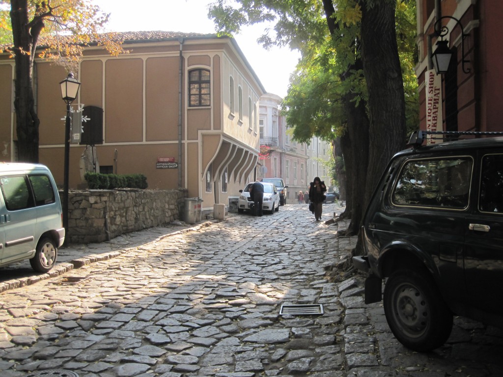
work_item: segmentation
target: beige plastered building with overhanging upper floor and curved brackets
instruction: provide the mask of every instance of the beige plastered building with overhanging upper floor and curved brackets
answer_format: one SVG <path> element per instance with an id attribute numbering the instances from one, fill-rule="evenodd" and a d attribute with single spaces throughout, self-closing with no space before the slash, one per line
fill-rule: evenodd
<path id="1" fill-rule="evenodd" d="M 259 99 L 265 93 L 235 40 L 172 32 L 121 36 L 128 54 L 113 57 L 89 46 L 73 72 L 81 82 L 73 107 L 102 109 L 94 113 L 103 114 L 97 137 L 103 141 L 96 143 L 94 156 L 98 172 L 142 173 L 149 189 L 184 187 L 188 197 L 203 200 L 204 209 L 228 204 L 229 196 L 239 195 L 256 177 Z M 59 82 L 67 73 L 47 61 L 36 62 L 39 160 L 59 185 L 66 115 Z M 14 59 L 1 56 L 1 161 L 17 159 L 14 79 Z M 85 149 L 85 144 L 70 146 L 70 189 L 85 187 Z"/>

